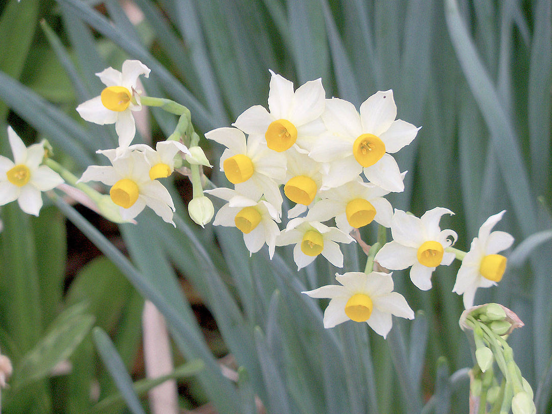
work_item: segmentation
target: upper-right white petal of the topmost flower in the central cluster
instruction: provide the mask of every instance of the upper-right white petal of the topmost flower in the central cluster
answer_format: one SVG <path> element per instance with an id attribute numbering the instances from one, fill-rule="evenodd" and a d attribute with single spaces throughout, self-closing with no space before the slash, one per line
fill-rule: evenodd
<path id="1" fill-rule="evenodd" d="M 295 91 L 294 105 L 289 108 L 289 119 L 293 121 L 295 126 L 309 123 L 322 115 L 325 100 L 326 92 L 322 86 L 322 79 L 319 78 L 302 84 Z M 272 113 L 272 109 L 270 109 L 270 113 Z M 275 116 L 275 114 L 273 115 Z"/>

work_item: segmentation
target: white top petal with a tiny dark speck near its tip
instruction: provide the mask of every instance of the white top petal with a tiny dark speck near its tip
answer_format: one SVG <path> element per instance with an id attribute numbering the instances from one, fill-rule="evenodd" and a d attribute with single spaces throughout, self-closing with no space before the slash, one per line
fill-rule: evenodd
<path id="1" fill-rule="evenodd" d="M 393 91 L 378 91 L 360 105 L 363 132 L 380 136 L 397 117 Z"/>

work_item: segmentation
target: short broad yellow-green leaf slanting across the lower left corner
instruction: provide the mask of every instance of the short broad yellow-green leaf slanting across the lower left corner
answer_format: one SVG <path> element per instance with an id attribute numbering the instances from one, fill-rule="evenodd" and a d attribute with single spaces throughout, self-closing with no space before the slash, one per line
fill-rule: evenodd
<path id="1" fill-rule="evenodd" d="M 72 306 L 52 322 L 46 336 L 15 367 L 13 388 L 45 378 L 71 356 L 94 323 L 94 317 L 83 314 L 83 309 L 82 304 Z"/>

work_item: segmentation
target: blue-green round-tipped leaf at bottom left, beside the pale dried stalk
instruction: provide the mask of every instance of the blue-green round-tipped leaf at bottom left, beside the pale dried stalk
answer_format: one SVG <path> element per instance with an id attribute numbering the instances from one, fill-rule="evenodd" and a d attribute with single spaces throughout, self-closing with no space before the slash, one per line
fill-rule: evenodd
<path id="1" fill-rule="evenodd" d="M 117 350 L 115 349 L 113 342 L 111 342 L 111 339 L 109 339 L 107 333 L 105 333 L 102 328 L 95 327 L 92 331 L 92 335 L 100 357 L 102 357 L 104 366 L 113 376 L 115 384 L 117 384 L 117 387 L 119 388 L 119 391 L 121 392 L 121 395 L 123 396 L 123 399 L 125 400 L 130 411 L 134 414 L 145 414 L 144 408 L 142 408 L 142 405 L 134 392 L 132 379 L 126 371 L 125 364 L 119 357 L 119 354 L 117 353 Z"/>

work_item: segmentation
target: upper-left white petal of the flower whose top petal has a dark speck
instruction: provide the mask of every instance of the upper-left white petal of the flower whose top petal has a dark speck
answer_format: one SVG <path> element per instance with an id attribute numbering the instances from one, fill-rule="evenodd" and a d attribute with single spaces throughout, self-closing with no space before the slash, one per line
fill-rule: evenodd
<path id="1" fill-rule="evenodd" d="M 351 144 L 363 132 L 357 108 L 344 99 L 326 99 L 326 110 L 322 114 L 322 120 L 328 130 L 337 132 L 339 136 L 348 139 Z"/>

